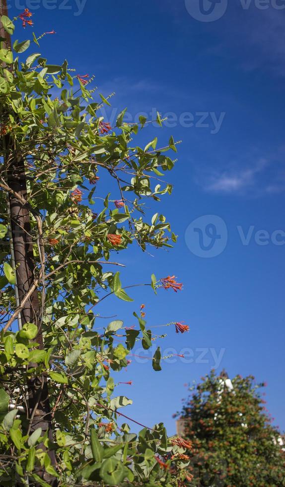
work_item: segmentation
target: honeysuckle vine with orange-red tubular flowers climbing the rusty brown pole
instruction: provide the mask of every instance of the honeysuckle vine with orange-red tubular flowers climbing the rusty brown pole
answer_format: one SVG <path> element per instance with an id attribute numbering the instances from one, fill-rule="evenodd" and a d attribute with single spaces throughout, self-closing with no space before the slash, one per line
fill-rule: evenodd
<path id="1" fill-rule="evenodd" d="M 0 20 L 10 35 L 14 22 L 33 24 L 28 9 L 14 21 L 5 15 Z M 67 61 L 48 64 L 38 52 L 23 55 L 33 45 L 38 50 L 39 40 L 48 34 L 55 31 L 33 34 L 32 41 L 15 40 L 11 49 L 1 38 L 0 485 L 49 486 L 45 474 L 38 475 L 44 471 L 56 479 L 53 485 L 63 487 L 182 487 L 191 482 L 185 455 L 189 444 L 168 438 L 162 423 L 144 426 L 140 418 L 118 410 L 132 401 L 115 394 L 122 383 L 115 384 L 111 374 L 131 366 L 137 341 L 149 349 L 158 339 L 146 327 L 145 305 L 134 312 L 136 325 L 116 319 L 99 331 L 96 322 L 108 296 L 133 301 L 127 293 L 133 286 L 124 286 L 117 271 L 124 267 L 117 262 L 119 251 L 133 242 L 148 251 L 176 241 L 162 214 L 149 221 L 145 201 L 159 202 L 171 194 L 163 178 L 174 161 L 165 153 L 176 152 L 177 142 L 171 137 L 160 149 L 157 138 L 144 148 L 136 145 L 136 135 L 147 123 L 144 117 L 139 124 L 128 124 L 123 110 L 111 127 L 99 112 L 111 95 L 97 94 L 92 76 L 76 74 Z M 156 121 L 161 125 L 159 114 Z M 7 178 L 15 158 L 24 161 L 25 196 Z M 97 198 L 101 180 L 107 178 L 116 185 L 114 199 L 110 193 Z M 9 194 L 28 211 L 31 224 L 22 231 L 32 239 L 33 282 L 20 302 Z M 114 251 L 116 259 L 111 258 Z M 171 275 L 152 275 L 138 285 L 155 293 L 182 289 Z M 18 329 L 17 319 L 35 291 L 40 302 L 36 323 Z M 170 325 L 173 332 L 189 330 L 181 322 Z M 43 347 L 36 340 L 39 327 Z M 152 357 L 155 371 L 161 370 L 160 360 L 158 346 Z M 29 411 L 27 384 L 35 377 L 48 386 L 52 437 L 41 427 L 31 429 L 37 404 Z M 133 434 L 128 423 L 118 426 L 118 417 L 143 429 Z"/>

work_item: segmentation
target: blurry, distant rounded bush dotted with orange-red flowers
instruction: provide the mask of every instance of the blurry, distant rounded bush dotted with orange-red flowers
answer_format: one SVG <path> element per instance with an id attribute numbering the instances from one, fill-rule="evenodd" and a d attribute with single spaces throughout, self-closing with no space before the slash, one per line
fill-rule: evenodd
<path id="1" fill-rule="evenodd" d="M 190 388 L 180 413 L 196 486 L 285 486 L 285 449 L 254 377 L 214 371 Z"/>

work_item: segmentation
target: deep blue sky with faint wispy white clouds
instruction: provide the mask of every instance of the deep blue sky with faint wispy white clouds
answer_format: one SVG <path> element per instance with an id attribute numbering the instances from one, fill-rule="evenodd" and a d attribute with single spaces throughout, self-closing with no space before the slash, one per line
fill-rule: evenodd
<path id="1" fill-rule="evenodd" d="M 174 347 L 179 354 L 186 347 L 193 361 L 178 358 L 154 373 L 149 360 L 133 358 L 118 379 L 134 382 L 117 390 L 134 400 L 126 413 L 148 426 L 163 420 L 174 433 L 171 416 L 187 395 L 184 384 L 217 365 L 230 377 L 253 374 L 266 381 L 268 408 L 285 429 L 285 5 L 272 0 L 261 9 L 258 2 L 236 0 L 220 18 L 204 22 L 193 18 L 194 3 L 197 7 L 198 0 L 14 4 L 34 12 L 37 35 L 56 30 L 41 44 L 51 63 L 67 58 L 77 73 L 94 74 L 105 96 L 116 92 L 106 116 L 127 106 L 134 120 L 157 109 L 168 113 L 166 127 L 149 126 L 140 140 L 158 135 L 163 146 L 173 135 L 183 141 L 168 175 L 173 195 L 150 209 L 167 216 L 178 243 L 153 256 L 134 245 L 122 255 L 128 266 L 122 281 L 149 282 L 152 272 L 175 274 L 184 290 L 154 296 L 139 288 L 130 292 L 134 306 L 112 298 L 100 312 L 133 325 L 132 312 L 144 303 L 150 326 L 184 321 L 191 328 L 184 335 L 173 328 L 153 331 L 168 335 L 161 341 L 163 353 Z M 105 189 L 102 177 L 98 191 L 103 195 Z M 206 227 L 220 238 L 208 238 Z M 200 228 L 203 241 L 194 228 Z M 209 250 L 199 256 L 201 242 Z"/>

